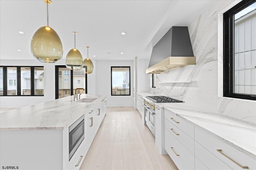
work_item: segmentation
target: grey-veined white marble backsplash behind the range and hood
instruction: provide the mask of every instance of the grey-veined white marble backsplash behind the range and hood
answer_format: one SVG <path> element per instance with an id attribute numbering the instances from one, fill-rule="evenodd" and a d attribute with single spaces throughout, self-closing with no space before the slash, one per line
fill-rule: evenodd
<path id="1" fill-rule="evenodd" d="M 218 96 L 218 13 L 234 1 L 217 1 L 204 14 L 188 25 L 196 65 L 156 74 L 152 94 L 183 100 L 191 110 L 220 113 L 256 123 L 256 102 Z M 220 77 L 219 77 L 220 79 Z M 190 83 L 159 83 L 181 82 Z M 220 90 L 220 89 L 219 89 Z"/>

